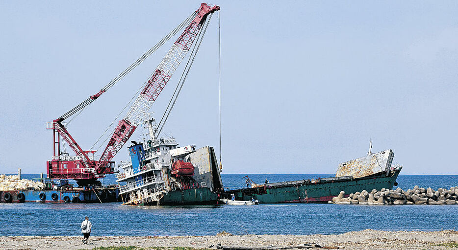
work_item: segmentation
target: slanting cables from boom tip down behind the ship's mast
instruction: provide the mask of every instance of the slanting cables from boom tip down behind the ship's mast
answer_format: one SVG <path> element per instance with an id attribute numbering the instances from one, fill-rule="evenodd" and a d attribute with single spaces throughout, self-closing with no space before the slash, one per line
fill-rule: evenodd
<path id="1" fill-rule="evenodd" d="M 211 13 L 209 15 L 208 20 L 204 21 L 206 23 L 202 24 L 202 25 L 205 24 L 204 30 L 202 32 L 199 32 L 199 35 L 198 35 L 198 37 L 196 39 L 197 41 L 199 41 L 199 43 L 196 43 L 196 45 L 194 45 L 194 48 L 191 51 L 191 56 L 189 57 L 188 62 L 186 63 L 186 66 L 185 66 L 185 68 L 183 70 L 183 73 L 181 74 L 181 77 L 180 77 L 180 79 L 178 81 L 177 88 L 175 89 L 174 94 L 172 95 L 172 98 L 169 101 L 169 105 L 167 105 L 167 108 L 164 111 L 164 114 L 162 115 L 161 120 L 159 121 L 159 125 L 158 125 L 159 126 L 159 130 L 157 132 L 157 135 L 159 135 L 161 133 L 162 129 L 164 128 L 164 124 L 167 121 L 167 118 L 169 118 L 170 112 L 172 111 L 172 109 L 173 109 L 173 107 L 175 105 L 175 102 L 177 101 L 179 92 L 181 91 L 181 88 L 183 88 L 184 82 L 186 81 L 186 77 L 188 76 L 189 70 L 192 67 L 192 64 L 194 62 L 194 59 L 196 58 L 197 52 L 199 51 L 199 47 L 201 46 L 202 40 L 204 39 L 205 32 L 207 30 L 208 24 L 210 23 L 212 15 L 213 15 L 213 13 Z M 201 37 L 201 35 L 202 35 L 202 37 Z M 180 84 L 180 82 L 181 82 L 181 84 Z M 178 86 L 179 86 L 179 89 L 178 89 Z M 174 95 L 175 95 L 175 97 L 174 97 Z M 172 102 L 172 100 L 173 100 L 173 102 Z M 169 107 L 170 107 L 170 109 L 169 109 Z"/>

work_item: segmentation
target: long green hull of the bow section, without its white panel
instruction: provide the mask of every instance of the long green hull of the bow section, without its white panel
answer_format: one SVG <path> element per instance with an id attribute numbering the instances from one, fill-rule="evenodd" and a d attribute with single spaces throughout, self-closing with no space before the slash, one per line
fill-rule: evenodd
<path id="1" fill-rule="evenodd" d="M 230 199 L 232 194 L 237 201 L 251 201 L 252 198 L 259 203 L 324 203 L 331 201 L 345 191 L 346 196 L 350 193 L 371 191 L 382 188 L 391 189 L 397 185 L 401 168 L 392 170 L 388 175 L 385 172 L 353 178 L 331 177 L 315 181 L 301 180 L 295 182 L 278 182 L 259 185 L 253 188 L 229 190 L 221 194 L 222 198 Z"/>

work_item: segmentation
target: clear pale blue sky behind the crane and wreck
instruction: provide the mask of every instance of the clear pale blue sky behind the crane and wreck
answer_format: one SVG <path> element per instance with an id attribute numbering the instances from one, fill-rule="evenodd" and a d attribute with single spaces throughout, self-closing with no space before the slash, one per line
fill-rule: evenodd
<path id="1" fill-rule="evenodd" d="M 373 152 L 394 151 L 401 174 L 458 174 L 456 1 L 209 3 L 221 6 L 223 173 L 333 174 L 366 155 L 372 139 Z M 0 173 L 46 172 L 46 122 L 97 93 L 199 6 L 0 1 Z M 68 124 L 84 150 L 122 118 L 172 43 Z M 153 104 L 156 118 L 183 68 Z M 219 155 L 218 100 L 214 14 L 166 135 Z M 114 160 L 125 159 L 126 146 Z"/>

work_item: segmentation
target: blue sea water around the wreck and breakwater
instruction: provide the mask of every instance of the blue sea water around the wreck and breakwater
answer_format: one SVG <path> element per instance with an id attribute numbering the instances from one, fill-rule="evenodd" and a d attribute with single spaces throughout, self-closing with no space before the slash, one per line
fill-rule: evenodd
<path id="1" fill-rule="evenodd" d="M 222 174 L 225 186 L 245 184 L 246 174 Z M 257 183 L 295 181 L 332 175 L 248 174 Z M 39 175 L 22 175 L 38 178 Z M 113 184 L 114 176 L 103 180 Z M 458 176 L 400 175 L 402 189 L 458 186 Z M 0 236 L 75 236 L 89 216 L 93 236 L 198 236 L 226 231 L 242 234 L 338 234 L 376 229 L 387 231 L 458 229 L 458 205 L 188 205 L 128 206 L 106 204 L 0 203 Z"/>

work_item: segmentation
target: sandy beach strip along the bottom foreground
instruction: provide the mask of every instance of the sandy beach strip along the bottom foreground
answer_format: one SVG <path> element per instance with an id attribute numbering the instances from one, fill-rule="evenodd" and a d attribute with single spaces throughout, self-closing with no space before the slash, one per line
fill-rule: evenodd
<path id="1" fill-rule="evenodd" d="M 270 245 L 295 246 L 305 243 L 340 246 L 348 250 L 446 250 L 454 249 L 453 246 L 458 247 L 458 231 L 390 232 L 367 229 L 336 235 L 104 236 L 91 237 L 88 245 L 82 244 L 80 236 L 0 237 L 0 249 L 8 250 L 77 250 L 108 246 L 210 248 L 211 245 L 216 246 L 217 244 L 263 247 Z M 212 249 L 216 249 L 216 247 L 212 247 Z"/>

